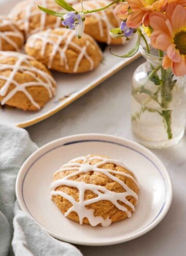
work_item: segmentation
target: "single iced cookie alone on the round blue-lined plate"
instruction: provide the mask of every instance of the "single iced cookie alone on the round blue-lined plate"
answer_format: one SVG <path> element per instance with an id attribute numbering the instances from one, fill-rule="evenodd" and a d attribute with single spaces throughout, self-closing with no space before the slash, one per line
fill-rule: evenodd
<path id="1" fill-rule="evenodd" d="M 138 183 L 122 162 L 88 155 L 54 173 L 51 197 L 69 219 L 107 227 L 135 212 Z"/>

